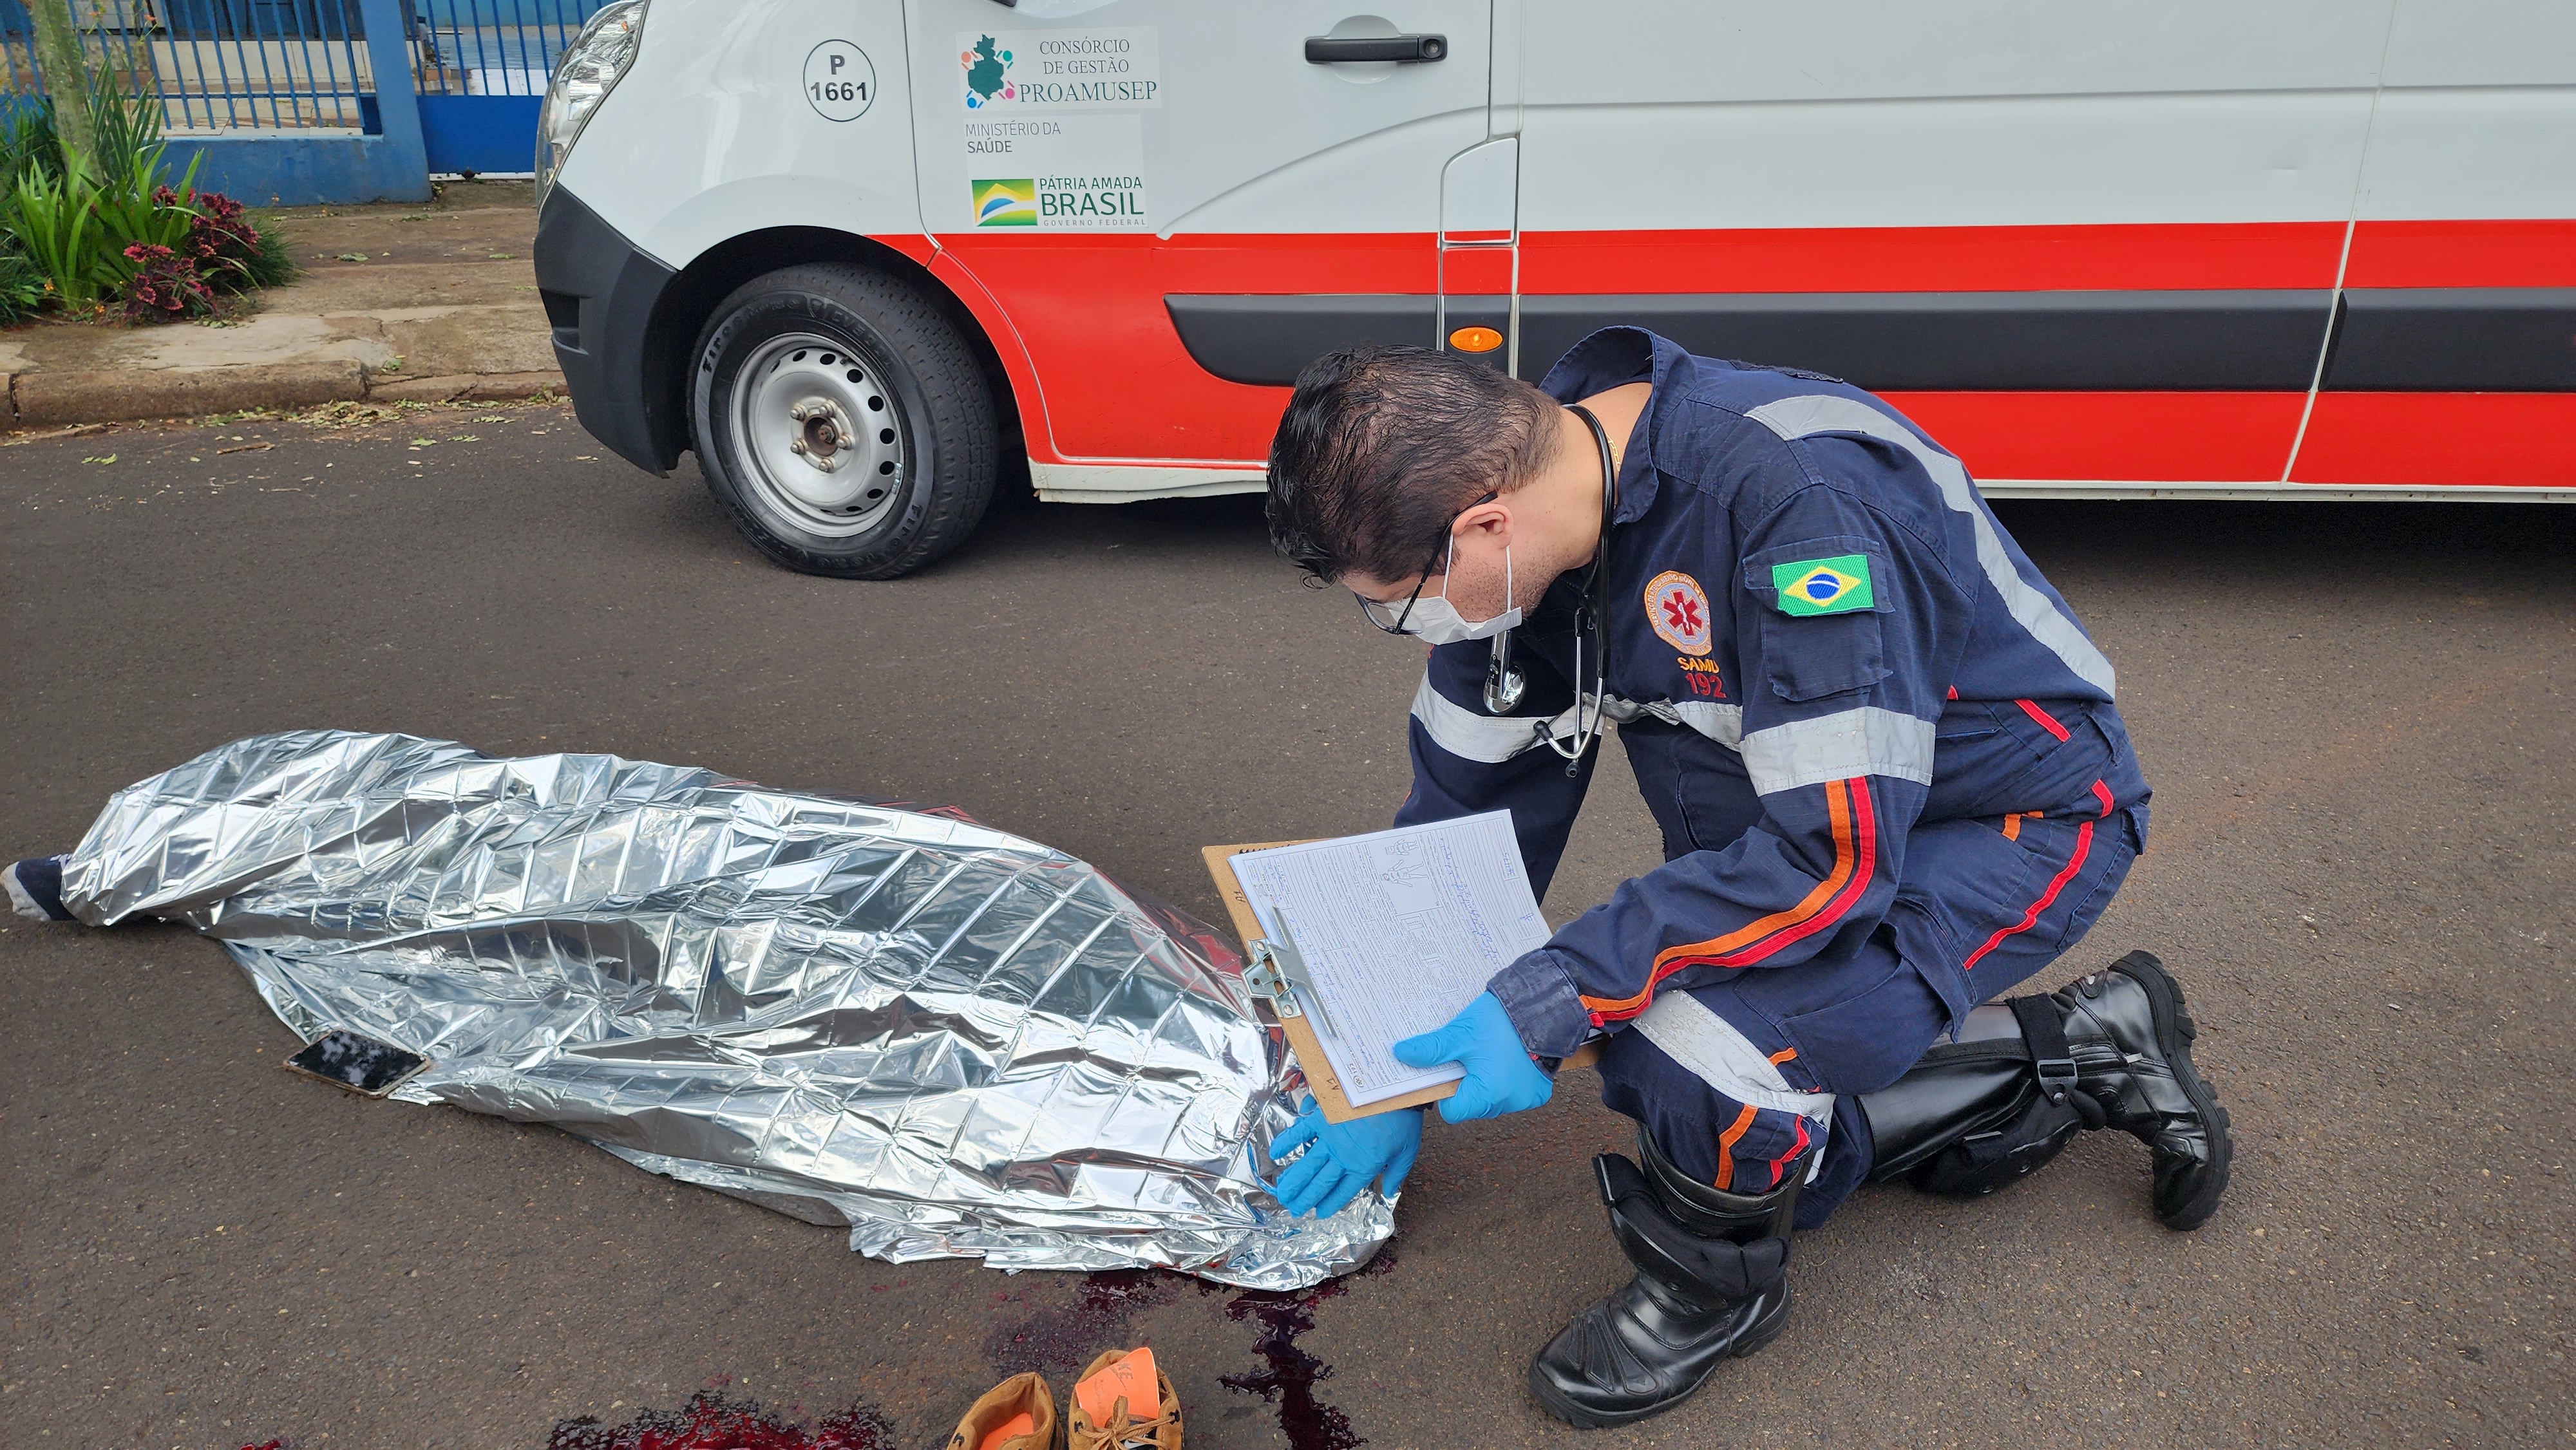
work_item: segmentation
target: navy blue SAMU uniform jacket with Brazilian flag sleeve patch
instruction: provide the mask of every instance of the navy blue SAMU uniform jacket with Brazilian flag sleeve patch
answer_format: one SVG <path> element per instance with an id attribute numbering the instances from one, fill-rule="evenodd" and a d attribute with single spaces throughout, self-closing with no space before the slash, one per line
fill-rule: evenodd
<path id="1" fill-rule="evenodd" d="M 1911 881 L 1906 834 L 2143 806 L 2110 662 L 1960 461 L 1886 402 L 1633 327 L 1584 337 L 1540 386 L 1577 402 L 1631 381 L 1654 397 L 1620 458 L 1602 698 L 1669 860 L 1492 992 L 1533 1053 L 1566 1056 L 1659 989 L 1832 963 L 1888 930 L 1965 1012 L 1960 968 L 2025 904 Z M 1510 809 L 1540 894 L 1592 765 L 1569 778 L 1543 747 L 1574 729 L 1577 579 L 1515 634 L 1528 695 L 1512 716 L 1481 701 L 1489 644 L 1430 652 L 1396 814 Z"/>

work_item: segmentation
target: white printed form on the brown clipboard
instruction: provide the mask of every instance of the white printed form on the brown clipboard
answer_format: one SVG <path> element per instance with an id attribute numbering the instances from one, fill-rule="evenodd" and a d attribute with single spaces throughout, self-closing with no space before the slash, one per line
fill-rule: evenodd
<path id="1" fill-rule="evenodd" d="M 1510 811 L 1226 858 L 1262 935 L 1303 961 L 1303 1012 L 1352 1107 L 1458 1082 L 1394 1043 L 1448 1025 L 1486 979 L 1546 945 Z"/>

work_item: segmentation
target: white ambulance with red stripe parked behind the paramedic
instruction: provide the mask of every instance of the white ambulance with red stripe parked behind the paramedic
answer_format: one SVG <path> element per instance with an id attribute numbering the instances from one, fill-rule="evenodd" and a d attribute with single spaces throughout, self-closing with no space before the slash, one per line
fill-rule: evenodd
<path id="1" fill-rule="evenodd" d="M 793 569 L 1257 489 L 1347 343 L 1886 394 L 1989 494 L 2576 500 L 2571 0 L 616 0 L 582 425 Z"/>

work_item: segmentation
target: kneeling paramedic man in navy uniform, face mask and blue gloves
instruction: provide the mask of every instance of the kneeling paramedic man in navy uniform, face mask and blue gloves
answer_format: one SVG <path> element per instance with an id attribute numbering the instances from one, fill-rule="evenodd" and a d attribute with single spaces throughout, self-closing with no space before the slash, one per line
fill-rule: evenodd
<path id="1" fill-rule="evenodd" d="M 1396 1048 L 1466 1066 L 1458 1123 L 1538 1107 L 1600 1038 L 1638 1120 L 1643 1164 L 1595 1162 L 1636 1280 L 1538 1352 L 1548 1411 L 1643 1419 L 1767 1344 L 1790 1229 L 1862 1180 L 1991 1192 L 2123 1128 L 2169 1229 L 2218 1208 L 2226 1110 L 2154 956 L 2002 999 L 2110 904 L 2148 791 L 2110 662 L 1888 404 L 1631 327 L 1540 386 L 1332 353 L 1273 440 L 1270 533 L 1432 644 L 1396 824 L 1510 809 L 1543 894 L 1615 721 L 1664 832 L 1662 868 Z M 1419 1110 L 1309 1110 L 1280 1200 L 1394 1192 L 1419 1141 Z"/>

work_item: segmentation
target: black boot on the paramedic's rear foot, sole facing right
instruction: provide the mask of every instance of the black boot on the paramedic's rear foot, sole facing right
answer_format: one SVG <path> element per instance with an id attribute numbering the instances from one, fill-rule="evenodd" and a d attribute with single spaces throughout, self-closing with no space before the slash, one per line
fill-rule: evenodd
<path id="1" fill-rule="evenodd" d="M 1878 1144 L 1870 1180 L 1994 1192 L 2076 1131 L 2120 1128 L 2156 1154 L 2156 1218 L 2197 1229 L 2228 1187 L 2233 1144 L 2192 1069 L 2195 1035 L 2182 986 L 2143 950 L 2061 992 L 1978 1007 L 1958 1043 L 1860 1100 Z"/>

